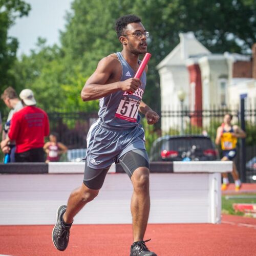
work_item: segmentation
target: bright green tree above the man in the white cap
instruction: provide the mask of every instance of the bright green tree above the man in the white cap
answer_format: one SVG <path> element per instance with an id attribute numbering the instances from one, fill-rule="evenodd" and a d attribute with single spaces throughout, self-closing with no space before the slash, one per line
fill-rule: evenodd
<path id="1" fill-rule="evenodd" d="M 15 63 L 13 76 L 16 88 L 31 89 L 37 105 L 52 111 L 92 111 L 96 101 L 84 103 L 80 98 L 86 76 L 78 64 L 67 60 L 57 45 L 47 46 L 44 38 L 38 38 L 36 49 L 23 55 Z"/>

